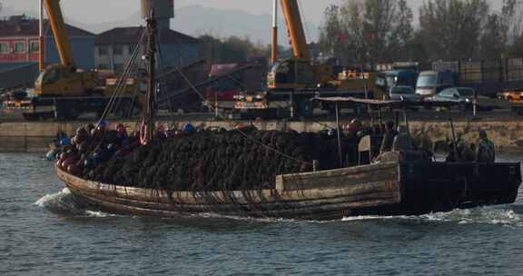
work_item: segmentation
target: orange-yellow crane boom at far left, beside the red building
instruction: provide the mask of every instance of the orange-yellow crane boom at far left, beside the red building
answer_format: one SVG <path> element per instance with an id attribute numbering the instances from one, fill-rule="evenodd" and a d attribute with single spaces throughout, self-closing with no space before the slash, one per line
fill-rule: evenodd
<path id="1" fill-rule="evenodd" d="M 60 63 L 65 67 L 75 67 L 73 49 L 64 23 L 64 15 L 60 9 L 60 0 L 44 0 L 45 10 L 54 34 L 54 44 L 60 55 Z"/>

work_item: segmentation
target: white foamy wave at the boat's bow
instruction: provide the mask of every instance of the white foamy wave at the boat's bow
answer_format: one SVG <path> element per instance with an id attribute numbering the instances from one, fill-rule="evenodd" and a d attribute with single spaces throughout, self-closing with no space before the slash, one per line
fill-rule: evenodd
<path id="1" fill-rule="evenodd" d="M 88 210 L 84 205 L 74 201 L 73 194 L 67 188 L 60 192 L 44 195 L 35 202 L 35 205 L 61 215 L 100 218 L 113 216 L 113 214 L 105 212 Z"/>

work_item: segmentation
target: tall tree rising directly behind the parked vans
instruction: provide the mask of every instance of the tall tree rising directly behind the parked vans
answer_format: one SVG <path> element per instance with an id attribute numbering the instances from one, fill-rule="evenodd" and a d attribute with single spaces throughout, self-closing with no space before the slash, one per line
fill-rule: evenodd
<path id="1" fill-rule="evenodd" d="M 452 60 L 477 56 L 488 12 L 486 0 L 424 2 L 419 8 L 419 25 L 429 58 Z M 489 20 L 495 25 L 498 18 Z"/>

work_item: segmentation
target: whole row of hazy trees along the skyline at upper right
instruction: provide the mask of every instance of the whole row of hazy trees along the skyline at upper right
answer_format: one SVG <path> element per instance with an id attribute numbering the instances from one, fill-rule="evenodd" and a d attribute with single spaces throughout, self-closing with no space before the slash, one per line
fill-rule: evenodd
<path id="1" fill-rule="evenodd" d="M 523 54 L 523 0 L 342 0 L 324 12 L 319 46 L 346 64 L 489 60 Z M 416 20 L 418 19 L 418 20 Z"/>

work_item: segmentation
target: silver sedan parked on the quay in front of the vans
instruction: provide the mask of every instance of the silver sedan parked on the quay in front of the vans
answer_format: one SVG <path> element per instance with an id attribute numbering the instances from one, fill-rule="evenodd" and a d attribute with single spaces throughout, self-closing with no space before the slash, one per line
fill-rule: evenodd
<path id="1" fill-rule="evenodd" d="M 474 104 L 475 94 L 476 92 L 473 88 L 451 87 L 441 91 L 433 97 L 427 98 L 426 101 L 454 102 L 459 104 L 461 110 L 469 110 L 472 109 L 472 104 Z M 478 106 L 479 110 L 491 111 L 499 106 L 498 99 L 491 99 L 487 96 L 478 95 Z"/>

